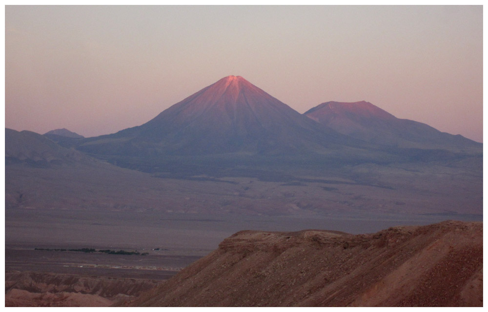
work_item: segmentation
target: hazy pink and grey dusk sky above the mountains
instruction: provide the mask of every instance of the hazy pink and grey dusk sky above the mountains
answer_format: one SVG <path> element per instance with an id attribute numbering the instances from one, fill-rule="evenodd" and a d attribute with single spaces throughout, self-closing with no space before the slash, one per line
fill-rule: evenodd
<path id="1" fill-rule="evenodd" d="M 7 128 L 115 133 L 229 75 L 482 142 L 483 7 L 5 7 Z"/>

